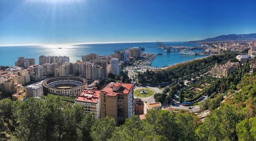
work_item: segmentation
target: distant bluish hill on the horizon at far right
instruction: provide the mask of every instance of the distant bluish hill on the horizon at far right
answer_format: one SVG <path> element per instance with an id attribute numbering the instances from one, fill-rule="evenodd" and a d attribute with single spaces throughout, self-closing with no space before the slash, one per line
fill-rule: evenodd
<path id="1" fill-rule="evenodd" d="M 252 34 L 229 34 L 199 41 L 227 41 L 227 40 L 256 40 L 256 33 Z"/>

